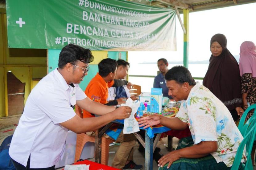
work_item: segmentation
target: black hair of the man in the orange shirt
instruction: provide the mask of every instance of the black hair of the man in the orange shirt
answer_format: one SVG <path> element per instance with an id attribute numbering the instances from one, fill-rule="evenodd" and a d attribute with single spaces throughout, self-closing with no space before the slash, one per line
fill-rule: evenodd
<path id="1" fill-rule="evenodd" d="M 113 59 L 103 59 L 98 64 L 99 67 L 99 75 L 101 77 L 106 77 L 109 73 L 113 73 L 117 67 L 117 61 Z"/>

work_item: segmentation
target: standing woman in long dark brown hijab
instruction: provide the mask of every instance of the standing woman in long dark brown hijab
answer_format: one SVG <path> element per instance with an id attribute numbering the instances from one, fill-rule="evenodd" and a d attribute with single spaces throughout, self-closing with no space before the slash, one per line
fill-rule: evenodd
<path id="1" fill-rule="evenodd" d="M 227 39 L 223 34 L 213 35 L 210 50 L 212 55 L 203 85 L 225 104 L 237 121 L 238 115 L 244 112 L 238 63 L 227 49 Z"/>

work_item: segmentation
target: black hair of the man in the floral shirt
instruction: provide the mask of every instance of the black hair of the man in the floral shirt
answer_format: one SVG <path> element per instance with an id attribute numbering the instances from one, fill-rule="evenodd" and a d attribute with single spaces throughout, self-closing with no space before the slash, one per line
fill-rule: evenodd
<path id="1" fill-rule="evenodd" d="M 168 80 L 175 80 L 179 84 L 188 82 L 188 84 L 190 86 L 191 85 L 196 85 L 196 82 L 193 79 L 191 73 L 188 71 L 188 69 L 186 67 L 183 67 L 183 66 L 172 67 L 165 74 L 165 79 L 167 81 Z"/>

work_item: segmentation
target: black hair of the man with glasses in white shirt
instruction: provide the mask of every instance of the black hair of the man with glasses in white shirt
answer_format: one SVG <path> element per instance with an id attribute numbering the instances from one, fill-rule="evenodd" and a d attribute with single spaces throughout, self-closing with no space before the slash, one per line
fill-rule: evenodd
<path id="1" fill-rule="evenodd" d="M 78 61 L 91 63 L 94 60 L 92 51 L 76 44 L 68 44 L 60 51 L 58 67 L 61 69 L 67 63 L 76 65 Z"/>

